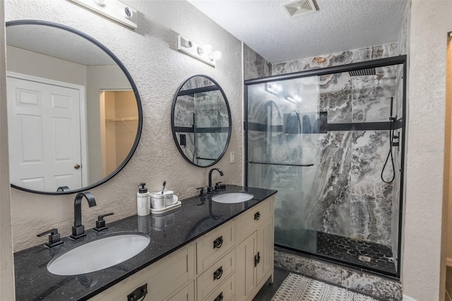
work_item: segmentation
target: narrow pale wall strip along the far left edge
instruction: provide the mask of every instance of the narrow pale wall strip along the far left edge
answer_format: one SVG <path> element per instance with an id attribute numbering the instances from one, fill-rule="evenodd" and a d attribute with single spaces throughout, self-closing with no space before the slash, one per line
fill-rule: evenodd
<path id="1" fill-rule="evenodd" d="M 4 2 L 0 1 L 0 45 L 5 45 Z M 14 300 L 13 241 L 9 191 L 8 122 L 6 120 L 5 47 L 0 47 L 0 292 L 1 298 Z"/>

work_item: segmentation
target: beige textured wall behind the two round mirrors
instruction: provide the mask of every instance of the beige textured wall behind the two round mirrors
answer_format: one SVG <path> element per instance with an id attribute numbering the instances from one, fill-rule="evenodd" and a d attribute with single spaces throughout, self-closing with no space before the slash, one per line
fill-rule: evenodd
<path id="1" fill-rule="evenodd" d="M 71 1 L 5 1 L 6 20 L 49 20 L 69 25 L 100 41 L 124 63 L 141 95 L 144 118 L 138 149 L 119 175 L 92 189 L 97 206 L 88 208 L 85 202 L 82 206 L 87 228 L 93 228 L 95 218 L 102 213 L 114 212 L 109 220 L 136 214 L 136 187 L 140 182 L 146 182 L 155 191 L 166 180 L 167 188 L 182 198 L 196 194 L 195 187 L 207 184 L 208 169 L 189 165 L 177 151 L 171 134 L 172 98 L 190 76 L 206 74 L 225 90 L 232 111 L 228 153 L 234 151 L 236 158 L 242 158 L 241 42 L 186 1 L 124 2 L 138 10 L 137 30 L 86 11 Z M 201 45 L 209 43 L 222 52 L 222 60 L 212 68 L 178 52 L 178 34 Z M 242 184 L 240 160 L 229 163 L 229 155 L 225 155 L 215 166 L 225 172 L 222 182 Z M 62 235 L 69 235 L 73 198 L 74 195 L 42 196 L 13 189 L 14 249 L 43 243 L 43 239 L 36 237 L 42 230 L 59 228 Z"/>

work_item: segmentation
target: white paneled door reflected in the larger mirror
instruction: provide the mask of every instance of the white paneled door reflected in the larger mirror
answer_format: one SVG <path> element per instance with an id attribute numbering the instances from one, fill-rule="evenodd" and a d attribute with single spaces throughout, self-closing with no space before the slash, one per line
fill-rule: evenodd
<path id="1" fill-rule="evenodd" d="M 82 187 L 80 90 L 7 78 L 11 183 Z"/>

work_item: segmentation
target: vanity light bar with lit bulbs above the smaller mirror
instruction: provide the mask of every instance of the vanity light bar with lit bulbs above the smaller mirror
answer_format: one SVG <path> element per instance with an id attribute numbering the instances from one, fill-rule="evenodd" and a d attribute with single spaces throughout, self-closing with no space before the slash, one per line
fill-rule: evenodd
<path id="1" fill-rule="evenodd" d="M 201 46 L 193 40 L 182 37 L 182 35 L 177 37 L 177 49 L 213 67 L 215 67 L 216 61 L 222 58 L 222 53 L 218 50 L 213 51 L 212 46 Z"/>

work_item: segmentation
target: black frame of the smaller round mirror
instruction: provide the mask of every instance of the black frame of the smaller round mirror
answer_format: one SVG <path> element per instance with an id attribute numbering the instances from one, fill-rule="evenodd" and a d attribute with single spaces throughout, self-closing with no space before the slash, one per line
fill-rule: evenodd
<path id="1" fill-rule="evenodd" d="M 191 160 L 189 160 L 189 158 L 186 157 L 186 155 L 184 154 L 184 151 L 182 151 L 182 148 L 179 146 L 179 141 L 177 140 L 177 136 L 176 136 L 176 131 L 175 131 L 175 126 L 174 126 L 174 108 L 176 107 L 176 101 L 177 101 L 177 94 L 179 93 L 179 91 L 182 89 L 182 87 L 185 85 L 185 83 L 187 81 L 190 81 L 191 78 L 197 77 L 197 76 L 202 76 L 204 78 L 207 78 L 209 81 L 211 81 L 212 83 L 214 83 L 217 87 L 218 90 L 220 90 L 222 97 L 225 99 L 225 104 L 227 107 L 227 117 L 229 118 L 229 126 L 228 126 L 228 131 L 227 131 L 227 140 L 226 140 L 226 144 L 225 144 L 225 148 L 223 148 L 222 153 L 218 156 L 217 160 L 213 161 L 213 163 L 209 164 L 209 165 L 197 165 L 194 162 L 192 162 Z M 221 86 L 210 76 L 206 76 L 203 74 L 196 74 L 194 76 L 191 76 L 190 78 L 188 78 L 186 81 L 184 81 L 181 85 L 179 85 L 179 88 L 177 88 L 176 93 L 174 94 L 174 98 L 172 100 L 172 106 L 171 106 L 171 131 L 172 131 L 172 138 L 174 138 L 174 143 L 176 143 L 177 149 L 179 150 L 179 153 L 181 153 L 182 157 L 191 165 L 197 166 L 197 167 L 210 167 L 212 165 L 215 165 L 216 163 L 218 163 L 218 161 L 221 160 L 221 158 L 223 157 L 223 155 L 225 155 L 226 151 L 227 151 L 227 147 L 229 146 L 230 140 L 231 140 L 231 132 L 232 132 L 232 119 L 231 119 L 231 109 L 229 107 L 229 102 L 227 101 L 226 95 L 225 95 L 225 91 L 223 91 L 223 89 L 221 88 Z"/>

